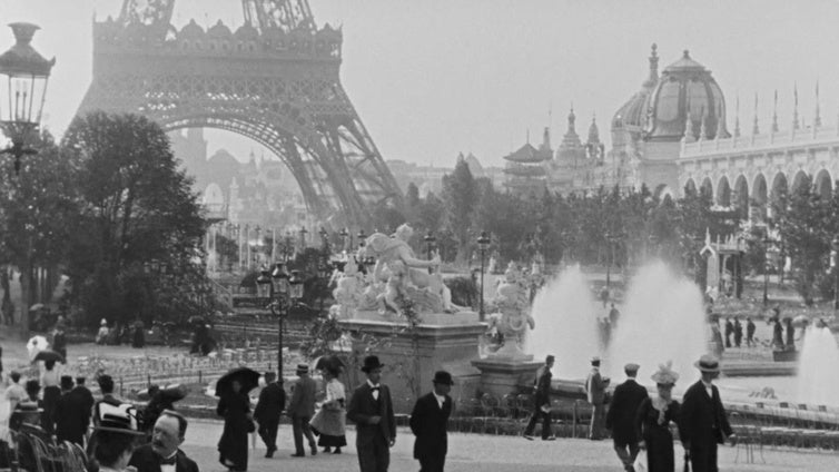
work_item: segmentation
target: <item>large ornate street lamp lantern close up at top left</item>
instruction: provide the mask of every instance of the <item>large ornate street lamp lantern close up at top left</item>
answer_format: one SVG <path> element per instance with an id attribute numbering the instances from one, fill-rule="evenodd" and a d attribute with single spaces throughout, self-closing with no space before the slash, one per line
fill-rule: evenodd
<path id="1" fill-rule="evenodd" d="M 11 146 L 2 153 L 14 156 L 17 175 L 20 159 L 37 153 L 26 147 L 26 140 L 41 122 L 47 82 L 56 58 L 45 59 L 30 45 L 39 27 L 31 23 L 9 26 L 17 42 L 0 56 L 0 128 L 11 139 Z"/>

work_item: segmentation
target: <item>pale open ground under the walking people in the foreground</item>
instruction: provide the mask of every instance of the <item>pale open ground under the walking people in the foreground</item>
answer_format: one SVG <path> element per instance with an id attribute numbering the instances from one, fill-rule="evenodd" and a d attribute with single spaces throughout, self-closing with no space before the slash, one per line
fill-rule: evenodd
<path id="1" fill-rule="evenodd" d="M 201 472 L 223 472 L 218 463 L 215 444 L 221 435 L 221 422 L 195 420 L 189 425 L 186 453 L 198 462 Z M 343 454 L 324 454 L 310 458 L 290 458 L 294 441 L 289 425 L 282 425 L 277 437 L 279 451 L 274 459 L 264 459 L 265 448 L 257 439 L 256 449 L 250 450 L 248 471 L 307 471 L 336 472 L 357 471 L 358 460 L 355 453 L 355 434 L 347 429 L 347 442 Z M 414 436 L 407 429 L 401 429 L 396 445 L 391 454 L 391 471 L 416 471 L 418 462 L 413 459 Z M 677 456 L 681 446 L 677 444 Z M 308 448 L 307 451 L 308 453 Z M 739 456 L 738 456 L 739 452 Z M 754 452 L 754 464 L 746 464 L 744 452 L 724 446 L 720 450 L 721 471 L 836 471 L 839 468 L 839 454 L 828 452 L 794 452 L 763 450 Z M 680 464 L 681 465 L 681 464 Z M 526 441 L 515 436 L 492 436 L 481 434 L 450 434 L 448 472 L 536 472 L 536 471 L 582 471 L 582 472 L 620 472 L 618 459 L 612 451 L 611 441 L 589 441 L 560 439 L 553 442 Z M 681 466 L 678 468 L 681 470 Z"/>

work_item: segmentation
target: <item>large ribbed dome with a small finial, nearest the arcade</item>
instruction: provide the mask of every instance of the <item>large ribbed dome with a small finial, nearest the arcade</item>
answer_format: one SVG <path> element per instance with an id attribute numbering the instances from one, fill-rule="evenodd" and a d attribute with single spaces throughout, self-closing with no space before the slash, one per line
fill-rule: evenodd
<path id="1" fill-rule="evenodd" d="M 685 50 L 681 59 L 661 73 L 646 100 L 644 136 L 654 141 L 677 141 L 685 135 L 713 139 L 726 129 L 726 99 L 711 71 L 691 59 Z M 703 122 L 704 121 L 704 122 Z M 704 125 L 704 126 L 703 126 Z"/>

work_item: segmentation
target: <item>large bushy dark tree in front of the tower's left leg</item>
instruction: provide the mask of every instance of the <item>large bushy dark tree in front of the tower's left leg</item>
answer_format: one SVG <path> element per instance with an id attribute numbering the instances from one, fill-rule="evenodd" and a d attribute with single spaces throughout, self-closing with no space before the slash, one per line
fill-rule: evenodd
<path id="1" fill-rule="evenodd" d="M 73 120 L 63 148 L 80 163 L 68 272 L 88 319 L 206 309 L 206 225 L 164 130 L 137 115 L 93 112 Z"/>

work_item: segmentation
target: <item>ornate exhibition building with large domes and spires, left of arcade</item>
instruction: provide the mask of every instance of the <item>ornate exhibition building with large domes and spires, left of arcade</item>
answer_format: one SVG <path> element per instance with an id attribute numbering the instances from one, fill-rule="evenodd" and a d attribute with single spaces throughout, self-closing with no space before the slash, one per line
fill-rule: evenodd
<path id="1" fill-rule="evenodd" d="M 573 130 L 573 117 L 569 129 Z M 604 153 L 593 121 L 585 145 L 573 139 L 575 135 L 566 134 L 569 139 L 563 139 L 556 154 L 550 180 L 559 191 L 593 191 L 615 185 L 638 189 L 643 184 L 655 193 L 672 191 L 678 188 L 682 142 L 731 136 L 726 127 L 726 99 L 711 71 L 684 51 L 659 76 L 655 45 L 641 89 L 612 117 L 609 153 Z"/>

